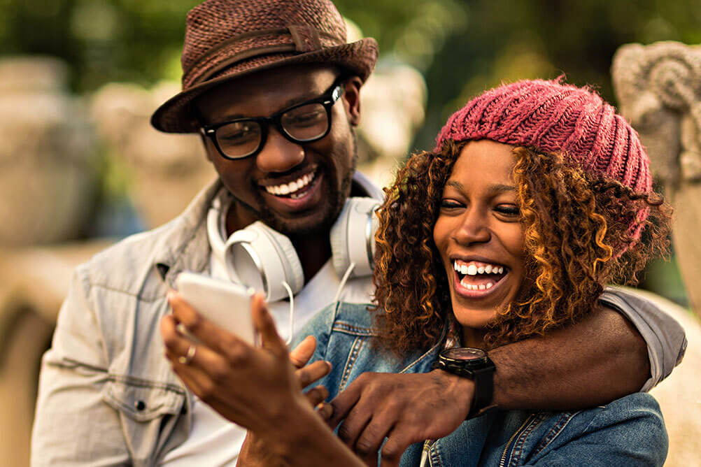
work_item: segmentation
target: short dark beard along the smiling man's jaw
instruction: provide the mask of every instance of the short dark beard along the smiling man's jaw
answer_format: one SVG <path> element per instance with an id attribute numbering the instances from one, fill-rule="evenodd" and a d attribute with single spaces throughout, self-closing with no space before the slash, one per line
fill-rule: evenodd
<path id="1" fill-rule="evenodd" d="M 283 235 L 287 235 L 287 237 L 303 237 L 330 230 L 332 225 L 334 225 L 334 222 L 336 222 L 336 219 L 339 217 L 339 214 L 341 214 L 341 210 L 346 204 L 348 195 L 351 193 L 353 174 L 355 174 L 355 167 L 358 165 L 358 145 L 355 144 L 355 131 L 353 128 L 351 128 L 351 132 L 353 133 L 353 158 L 351 159 L 351 167 L 346 175 L 343 176 L 341 186 L 339 188 L 336 188 L 335 184 L 329 183 L 329 193 L 326 193 L 326 199 L 332 200 L 332 202 L 324 207 L 325 213 L 320 222 L 317 222 L 314 225 L 309 225 L 308 223 L 300 222 L 297 219 L 288 220 L 276 216 L 264 202 L 262 195 L 260 195 L 260 193 L 257 191 L 257 187 L 254 187 L 255 189 L 252 190 L 252 193 L 256 193 L 259 208 L 252 207 L 250 204 L 247 204 L 236 197 L 234 197 L 234 199 L 240 207 L 243 207 L 252 213 L 259 221 L 262 221 L 268 225 L 268 227 L 277 230 Z M 329 181 L 334 179 L 334 177 L 331 176 L 332 174 L 330 173 L 329 166 L 324 165 L 321 167 L 321 169 L 325 179 Z"/>

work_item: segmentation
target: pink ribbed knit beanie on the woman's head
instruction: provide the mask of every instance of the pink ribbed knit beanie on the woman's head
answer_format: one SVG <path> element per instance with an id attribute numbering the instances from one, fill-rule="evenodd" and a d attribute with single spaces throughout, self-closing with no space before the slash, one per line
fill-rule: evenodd
<path id="1" fill-rule="evenodd" d="M 585 172 L 639 192 L 652 190 L 650 160 L 637 132 L 587 88 L 543 80 L 501 85 L 448 119 L 436 138 L 437 150 L 447 139 L 491 139 L 540 153 L 562 152 Z"/>

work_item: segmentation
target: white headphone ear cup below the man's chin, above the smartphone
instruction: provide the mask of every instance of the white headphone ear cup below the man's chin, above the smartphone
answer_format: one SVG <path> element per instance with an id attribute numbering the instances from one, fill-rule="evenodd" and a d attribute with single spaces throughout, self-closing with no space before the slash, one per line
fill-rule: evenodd
<path id="1" fill-rule="evenodd" d="M 234 232 L 226 242 L 226 263 L 243 284 L 264 291 L 268 302 L 287 298 L 304 286 L 304 271 L 292 242 L 257 221 Z"/>

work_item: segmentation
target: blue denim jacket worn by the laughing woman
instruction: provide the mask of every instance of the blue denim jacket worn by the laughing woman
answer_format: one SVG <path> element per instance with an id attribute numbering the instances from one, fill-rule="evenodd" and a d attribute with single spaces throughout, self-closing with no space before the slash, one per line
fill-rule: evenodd
<path id="1" fill-rule="evenodd" d="M 313 360 L 332 372 L 322 379 L 333 398 L 362 372 L 428 372 L 440 345 L 402 360 L 372 345 L 376 332 L 364 305 L 336 302 L 300 336 L 314 335 Z M 418 466 L 423 443 L 411 445 L 402 466 Z M 430 466 L 662 466 L 667 431 L 657 401 L 634 393 L 605 407 L 576 412 L 495 410 L 464 421 L 430 447 Z"/>

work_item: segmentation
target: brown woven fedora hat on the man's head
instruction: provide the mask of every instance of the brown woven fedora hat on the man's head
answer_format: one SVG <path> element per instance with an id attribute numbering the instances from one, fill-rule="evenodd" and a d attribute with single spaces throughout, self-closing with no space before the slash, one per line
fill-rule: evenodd
<path id="1" fill-rule="evenodd" d="M 168 133 L 198 132 L 192 99 L 255 71 L 298 63 L 336 64 L 365 81 L 377 60 L 372 38 L 346 43 L 330 0 L 207 0 L 185 22 L 182 92 L 151 116 Z"/>

